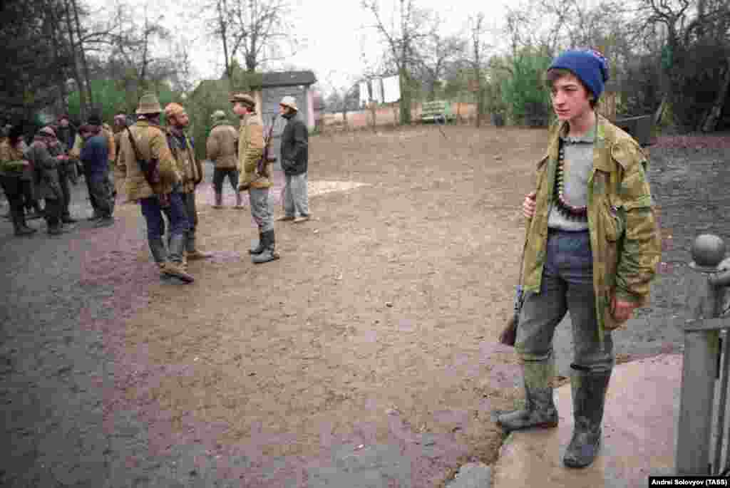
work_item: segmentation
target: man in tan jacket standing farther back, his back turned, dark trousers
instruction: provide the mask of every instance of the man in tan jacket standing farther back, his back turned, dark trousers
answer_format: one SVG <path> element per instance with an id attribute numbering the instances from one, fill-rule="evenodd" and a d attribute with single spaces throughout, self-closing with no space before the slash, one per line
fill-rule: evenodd
<path id="1" fill-rule="evenodd" d="M 236 192 L 236 207 L 242 209 L 241 192 L 238 190 L 238 132 L 226 117 L 226 112 L 216 110 L 210 117 L 213 128 L 206 143 L 207 157 L 215 164 L 213 170 L 213 189 L 215 190 L 214 209 L 223 208 L 223 181 L 228 177 Z"/>

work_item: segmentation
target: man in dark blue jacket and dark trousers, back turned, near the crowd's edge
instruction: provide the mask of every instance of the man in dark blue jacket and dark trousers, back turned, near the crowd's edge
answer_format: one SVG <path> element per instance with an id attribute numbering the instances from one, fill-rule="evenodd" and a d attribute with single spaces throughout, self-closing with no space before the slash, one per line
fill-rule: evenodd
<path id="1" fill-rule="evenodd" d="M 112 217 L 112 195 L 107 184 L 109 173 L 109 148 L 106 136 L 101 134 L 100 125 L 82 125 L 79 134 L 84 140 L 81 148 L 81 163 L 89 188 L 89 197 L 96 205 L 94 211 L 99 219 L 95 227 L 106 227 L 114 223 Z"/>

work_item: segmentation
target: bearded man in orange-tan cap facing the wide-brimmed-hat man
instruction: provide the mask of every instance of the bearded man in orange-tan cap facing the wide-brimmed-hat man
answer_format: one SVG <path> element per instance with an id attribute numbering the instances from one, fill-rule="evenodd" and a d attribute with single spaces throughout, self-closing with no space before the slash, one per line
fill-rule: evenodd
<path id="1" fill-rule="evenodd" d="M 195 189 L 203 181 L 203 167 L 196 158 L 193 139 L 185 133 L 190 125 L 190 118 L 185 108 L 176 103 L 165 107 L 167 120 L 167 145 L 172 152 L 172 158 L 177 163 L 177 170 L 183 177 L 182 185 L 185 212 L 188 214 L 188 237 L 185 241 L 185 255 L 188 260 L 198 260 L 210 257 L 210 254 L 201 252 L 196 243 L 196 229 L 198 227 L 198 209 L 195 205 Z M 183 260 L 183 262 L 185 262 Z"/>

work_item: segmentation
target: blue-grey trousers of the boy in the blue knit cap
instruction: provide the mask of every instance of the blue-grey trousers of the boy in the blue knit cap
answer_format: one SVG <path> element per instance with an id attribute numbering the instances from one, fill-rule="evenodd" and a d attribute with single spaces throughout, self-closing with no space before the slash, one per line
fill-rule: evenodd
<path id="1" fill-rule="evenodd" d="M 614 364 L 610 331 L 601 346 L 593 292 L 593 253 L 588 231 L 548 233 L 545 267 L 539 293 L 525 297 L 515 349 L 524 361 L 553 356 L 558 323 L 570 312 L 573 364 L 591 371 L 610 371 Z"/>

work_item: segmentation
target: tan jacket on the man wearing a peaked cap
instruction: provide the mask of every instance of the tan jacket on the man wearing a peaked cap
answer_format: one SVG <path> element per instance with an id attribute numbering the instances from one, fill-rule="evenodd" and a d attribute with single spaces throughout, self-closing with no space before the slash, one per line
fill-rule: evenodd
<path id="1" fill-rule="evenodd" d="M 268 188 L 272 185 L 269 177 L 258 174 L 257 166 L 264 155 L 264 125 L 256 113 L 247 114 L 241 119 L 238 136 L 239 187 L 246 189 Z M 266 168 L 272 174 L 272 165 Z"/>

